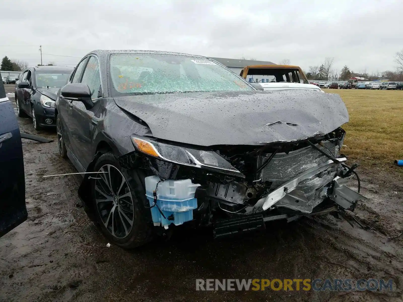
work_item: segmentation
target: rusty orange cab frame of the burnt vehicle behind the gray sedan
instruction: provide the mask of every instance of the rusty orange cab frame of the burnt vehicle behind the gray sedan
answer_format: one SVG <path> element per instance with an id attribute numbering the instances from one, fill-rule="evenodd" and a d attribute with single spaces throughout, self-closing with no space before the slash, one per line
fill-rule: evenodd
<path id="1" fill-rule="evenodd" d="M 309 84 L 301 67 L 293 65 L 249 65 L 245 66 L 239 75 L 244 79 L 252 76 L 254 83 L 294 82 Z"/>

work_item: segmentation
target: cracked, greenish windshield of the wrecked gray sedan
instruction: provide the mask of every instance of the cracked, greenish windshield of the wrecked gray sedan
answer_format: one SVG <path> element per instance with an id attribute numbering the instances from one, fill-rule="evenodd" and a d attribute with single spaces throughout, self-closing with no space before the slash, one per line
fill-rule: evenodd
<path id="1" fill-rule="evenodd" d="M 254 90 L 212 60 L 166 54 L 112 54 L 110 86 L 114 96 Z"/>

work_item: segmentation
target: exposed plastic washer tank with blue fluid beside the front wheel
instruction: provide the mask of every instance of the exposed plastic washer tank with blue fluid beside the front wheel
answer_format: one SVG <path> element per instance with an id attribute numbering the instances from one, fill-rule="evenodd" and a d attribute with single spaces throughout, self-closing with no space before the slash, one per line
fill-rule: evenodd
<path id="1" fill-rule="evenodd" d="M 154 203 L 153 191 L 159 181 L 158 176 L 145 178 L 145 196 L 150 202 L 150 206 Z M 198 186 L 200 184 L 193 184 L 190 179 L 161 181 L 158 184 L 157 205 L 166 219 L 162 217 L 156 206 L 152 207 L 151 215 L 154 225 L 162 224 L 167 229 L 171 223 L 181 225 L 186 221 L 193 220 L 193 210 L 197 209 L 195 192 Z M 173 220 L 168 220 L 171 215 Z"/>

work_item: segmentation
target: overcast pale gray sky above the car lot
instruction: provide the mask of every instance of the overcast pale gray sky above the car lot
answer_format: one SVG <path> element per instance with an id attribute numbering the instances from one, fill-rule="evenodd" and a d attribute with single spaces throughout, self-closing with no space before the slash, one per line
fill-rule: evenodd
<path id="1" fill-rule="evenodd" d="M 382 72 L 403 49 L 401 0 L 59 2 L 2 1 L 0 56 L 35 65 L 42 45 L 44 64 L 74 66 L 94 49 L 146 49 Z"/>

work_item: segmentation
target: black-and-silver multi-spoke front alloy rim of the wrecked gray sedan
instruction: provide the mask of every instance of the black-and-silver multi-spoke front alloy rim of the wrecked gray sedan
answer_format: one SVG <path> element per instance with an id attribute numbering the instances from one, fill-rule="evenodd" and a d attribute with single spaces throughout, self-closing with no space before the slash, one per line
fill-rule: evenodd
<path id="1" fill-rule="evenodd" d="M 134 222 L 133 197 L 129 185 L 113 165 L 103 165 L 96 175 L 95 201 L 102 223 L 112 236 L 125 238 Z"/>

